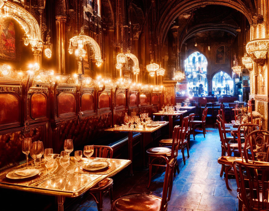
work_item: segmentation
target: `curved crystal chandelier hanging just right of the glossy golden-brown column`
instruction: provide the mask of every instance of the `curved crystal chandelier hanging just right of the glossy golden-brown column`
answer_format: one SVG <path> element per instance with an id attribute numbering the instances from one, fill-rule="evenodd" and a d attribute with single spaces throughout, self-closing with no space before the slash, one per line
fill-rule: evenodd
<path id="1" fill-rule="evenodd" d="M 81 32 L 78 36 L 74 36 L 70 39 L 68 52 L 72 54 L 74 48 L 77 47 L 77 49 L 75 50 L 75 55 L 81 60 L 82 58 L 86 56 L 86 50 L 83 49 L 84 45 L 86 44 L 89 44 L 93 47 L 95 51 L 95 57 L 94 57 L 95 62 L 96 62 L 95 64 L 99 67 L 103 62 L 101 58 L 100 47 L 98 43 L 92 37 L 84 35 L 83 29 L 81 29 Z"/>

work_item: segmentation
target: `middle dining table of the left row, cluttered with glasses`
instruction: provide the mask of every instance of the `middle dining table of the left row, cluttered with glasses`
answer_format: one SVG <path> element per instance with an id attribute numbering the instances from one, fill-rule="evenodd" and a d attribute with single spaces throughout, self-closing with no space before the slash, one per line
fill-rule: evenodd
<path id="1" fill-rule="evenodd" d="M 162 122 L 153 122 L 152 124 L 145 124 L 145 128 L 133 128 L 128 126 L 116 126 L 105 129 L 105 131 L 115 131 L 115 132 L 128 132 L 128 159 L 133 160 L 133 132 L 140 132 L 143 135 L 141 143 L 141 153 L 142 153 L 142 163 L 145 163 L 145 135 L 147 133 L 155 132 L 156 130 L 167 125 L 167 121 Z M 133 175 L 133 166 L 132 163 L 129 165 L 130 175 Z"/>

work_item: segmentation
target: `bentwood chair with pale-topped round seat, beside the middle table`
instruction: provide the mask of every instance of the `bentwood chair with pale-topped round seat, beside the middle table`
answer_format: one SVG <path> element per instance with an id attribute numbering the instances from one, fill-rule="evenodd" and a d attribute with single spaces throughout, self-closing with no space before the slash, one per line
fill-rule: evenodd
<path id="1" fill-rule="evenodd" d="M 173 141 L 172 141 L 172 148 L 168 147 L 153 147 L 147 150 L 147 155 L 149 156 L 149 183 L 147 185 L 147 188 L 150 187 L 151 178 L 152 175 L 152 167 L 156 166 L 156 172 L 159 168 L 159 166 L 165 166 L 162 164 L 163 159 L 162 157 L 166 157 L 169 161 L 173 158 L 176 159 L 174 171 L 175 168 L 177 168 L 177 172 L 179 172 L 179 167 L 177 165 L 177 154 L 178 154 L 178 147 L 180 142 L 180 137 L 182 134 L 182 130 L 180 129 L 180 126 L 174 127 L 174 133 L 173 133 Z M 174 173 L 175 174 L 175 173 Z"/>

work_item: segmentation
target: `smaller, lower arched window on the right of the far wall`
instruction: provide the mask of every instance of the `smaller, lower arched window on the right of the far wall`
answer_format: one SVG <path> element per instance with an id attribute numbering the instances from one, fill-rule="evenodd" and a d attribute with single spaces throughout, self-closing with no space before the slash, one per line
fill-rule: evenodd
<path id="1" fill-rule="evenodd" d="M 215 96 L 232 95 L 234 93 L 233 79 L 222 71 L 216 73 L 212 79 L 212 94 Z"/>

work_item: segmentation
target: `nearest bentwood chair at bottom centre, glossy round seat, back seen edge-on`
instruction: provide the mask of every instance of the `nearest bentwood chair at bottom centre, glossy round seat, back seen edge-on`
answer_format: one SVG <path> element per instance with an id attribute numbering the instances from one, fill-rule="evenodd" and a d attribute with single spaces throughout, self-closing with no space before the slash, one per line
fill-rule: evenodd
<path id="1" fill-rule="evenodd" d="M 111 204 L 112 211 L 167 211 L 173 186 L 173 168 L 175 166 L 176 158 L 168 160 L 167 157 L 162 156 L 165 160 L 165 180 L 163 184 L 162 198 L 147 194 L 147 193 L 132 193 L 119 197 Z"/>

